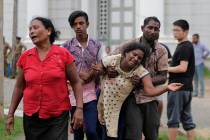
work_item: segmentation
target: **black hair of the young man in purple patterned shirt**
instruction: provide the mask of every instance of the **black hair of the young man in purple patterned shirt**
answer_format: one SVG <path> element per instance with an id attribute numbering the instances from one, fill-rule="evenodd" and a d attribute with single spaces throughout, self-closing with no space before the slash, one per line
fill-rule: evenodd
<path id="1" fill-rule="evenodd" d="M 70 14 L 69 18 L 68 18 L 68 22 L 70 24 L 71 27 L 73 27 L 74 25 L 74 21 L 76 18 L 78 17 L 84 17 L 85 20 L 86 20 L 86 23 L 88 24 L 89 23 L 89 20 L 88 20 L 88 15 L 87 13 L 85 13 L 84 11 L 74 11 L 73 13 Z"/>

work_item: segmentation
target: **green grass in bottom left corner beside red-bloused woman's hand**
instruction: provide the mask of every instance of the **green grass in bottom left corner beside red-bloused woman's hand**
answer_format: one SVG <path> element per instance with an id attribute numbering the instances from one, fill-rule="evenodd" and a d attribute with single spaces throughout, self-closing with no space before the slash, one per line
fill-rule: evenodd
<path id="1" fill-rule="evenodd" d="M 5 133 L 5 121 L 0 120 L 0 139 L 1 140 L 15 140 L 16 137 L 23 133 L 22 118 L 15 117 L 15 126 L 11 135 Z"/>

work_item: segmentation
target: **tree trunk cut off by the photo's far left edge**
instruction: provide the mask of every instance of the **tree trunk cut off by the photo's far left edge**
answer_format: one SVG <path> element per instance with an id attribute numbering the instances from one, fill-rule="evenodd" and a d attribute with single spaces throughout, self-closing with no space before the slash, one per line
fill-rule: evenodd
<path id="1" fill-rule="evenodd" d="M 0 0 L 0 119 L 4 117 L 3 0 Z"/>

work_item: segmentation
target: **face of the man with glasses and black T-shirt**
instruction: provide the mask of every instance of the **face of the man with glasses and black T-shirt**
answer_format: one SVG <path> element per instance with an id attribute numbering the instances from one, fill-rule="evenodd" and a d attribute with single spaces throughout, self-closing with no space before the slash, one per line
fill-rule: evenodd
<path id="1" fill-rule="evenodd" d="M 181 27 L 174 25 L 173 26 L 173 35 L 174 38 L 178 41 L 182 41 L 187 37 L 188 31 L 184 31 Z"/>

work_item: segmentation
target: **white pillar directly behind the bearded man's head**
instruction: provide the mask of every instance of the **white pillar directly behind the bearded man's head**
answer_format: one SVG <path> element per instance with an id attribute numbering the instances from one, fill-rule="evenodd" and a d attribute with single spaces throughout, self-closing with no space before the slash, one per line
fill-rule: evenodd
<path id="1" fill-rule="evenodd" d="M 137 0 L 139 5 L 138 16 L 140 19 L 140 26 L 143 25 L 143 21 L 148 16 L 156 16 L 161 23 L 160 35 L 164 35 L 164 12 L 165 12 L 165 3 L 164 0 Z M 140 30 L 141 31 L 141 30 Z"/>

